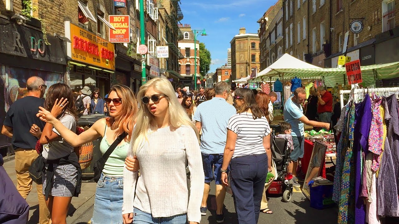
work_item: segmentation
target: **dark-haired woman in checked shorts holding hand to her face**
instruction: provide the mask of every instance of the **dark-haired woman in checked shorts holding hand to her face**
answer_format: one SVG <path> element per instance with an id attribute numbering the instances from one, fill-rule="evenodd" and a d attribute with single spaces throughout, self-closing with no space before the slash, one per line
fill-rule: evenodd
<path id="1" fill-rule="evenodd" d="M 63 83 L 53 84 L 47 91 L 44 108 L 56 113 L 53 120 L 56 120 L 59 126 L 75 134 L 76 108 L 74 104 L 68 104 L 64 99 L 73 99 L 71 88 Z M 42 176 L 43 195 L 51 220 L 55 224 L 66 224 L 72 196 L 80 193 L 79 159 L 74 153 L 73 145 L 65 141 L 52 124 L 46 123 L 42 132 L 36 124 L 33 124 L 30 132 L 40 138 L 40 143 L 43 144 L 41 154 L 45 159 Z"/>

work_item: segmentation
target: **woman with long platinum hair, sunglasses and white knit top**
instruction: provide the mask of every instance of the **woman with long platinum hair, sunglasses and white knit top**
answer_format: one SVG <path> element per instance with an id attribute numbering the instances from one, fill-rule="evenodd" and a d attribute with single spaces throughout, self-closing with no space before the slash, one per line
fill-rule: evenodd
<path id="1" fill-rule="evenodd" d="M 148 81 L 138 99 L 140 110 L 128 156 L 137 158 L 140 177 L 125 167 L 124 223 L 151 224 L 154 218 L 165 224 L 199 223 L 204 174 L 197 130 L 167 79 Z"/>

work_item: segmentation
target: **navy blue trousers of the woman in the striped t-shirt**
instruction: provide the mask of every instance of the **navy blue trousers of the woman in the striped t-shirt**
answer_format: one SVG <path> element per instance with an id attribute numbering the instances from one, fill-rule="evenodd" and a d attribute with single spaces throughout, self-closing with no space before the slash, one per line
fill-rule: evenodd
<path id="1" fill-rule="evenodd" d="M 267 154 L 231 159 L 230 185 L 239 224 L 257 224 L 267 177 Z"/>

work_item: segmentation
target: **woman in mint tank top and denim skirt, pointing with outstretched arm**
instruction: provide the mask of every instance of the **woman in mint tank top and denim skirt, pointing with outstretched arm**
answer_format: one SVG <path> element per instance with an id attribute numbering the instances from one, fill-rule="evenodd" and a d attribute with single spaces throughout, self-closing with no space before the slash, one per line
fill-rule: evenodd
<path id="1" fill-rule="evenodd" d="M 123 203 L 123 169 L 124 160 L 129 150 L 129 142 L 134 126 L 134 115 L 137 111 L 137 100 L 127 86 L 115 85 L 105 98 L 111 117 L 98 120 L 80 135 L 66 128 L 56 119 L 58 114 L 51 114 L 41 108 L 38 116 L 41 120 L 53 125 L 57 132 L 73 147 L 83 145 L 102 137 L 100 151 L 104 154 L 117 137 L 126 132 L 128 135 L 111 153 L 101 178 L 97 183 L 94 199 L 92 224 L 122 224 Z M 63 105 L 65 105 L 64 100 Z M 61 105 L 62 106 L 62 105 Z"/>

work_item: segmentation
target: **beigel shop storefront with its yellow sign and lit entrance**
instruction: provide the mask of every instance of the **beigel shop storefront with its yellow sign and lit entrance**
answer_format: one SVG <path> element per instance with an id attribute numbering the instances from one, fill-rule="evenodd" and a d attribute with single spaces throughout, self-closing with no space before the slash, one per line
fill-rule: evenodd
<path id="1" fill-rule="evenodd" d="M 71 40 L 67 75 L 73 92 L 78 95 L 83 86 L 89 86 L 99 88 L 104 97 L 115 81 L 115 45 L 70 21 L 65 21 L 65 37 Z"/>

